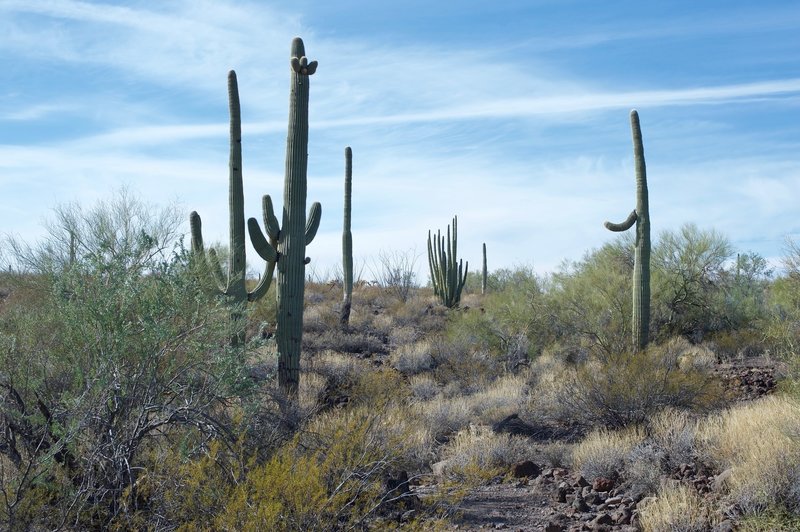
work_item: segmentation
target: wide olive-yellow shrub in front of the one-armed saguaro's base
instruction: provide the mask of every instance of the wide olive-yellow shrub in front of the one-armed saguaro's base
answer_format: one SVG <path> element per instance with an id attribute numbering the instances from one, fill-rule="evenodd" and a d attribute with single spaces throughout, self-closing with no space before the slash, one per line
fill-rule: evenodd
<path id="1" fill-rule="evenodd" d="M 666 407 L 704 411 L 721 404 L 724 390 L 710 373 L 679 367 L 680 346 L 595 355 L 565 371 L 553 383 L 564 414 L 585 425 L 623 427 L 643 423 Z"/>

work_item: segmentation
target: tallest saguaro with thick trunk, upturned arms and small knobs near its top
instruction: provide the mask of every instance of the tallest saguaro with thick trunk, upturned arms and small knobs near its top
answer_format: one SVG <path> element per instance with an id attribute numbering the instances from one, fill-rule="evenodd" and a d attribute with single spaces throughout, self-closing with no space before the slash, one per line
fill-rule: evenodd
<path id="1" fill-rule="evenodd" d="M 258 221 L 250 218 L 247 226 L 258 254 L 277 261 L 278 382 L 290 395 L 296 395 L 300 383 L 300 351 L 303 342 L 303 296 L 305 294 L 306 246 L 319 228 L 322 207 L 314 203 L 306 218 L 306 179 L 308 169 L 308 89 L 309 76 L 317 62 L 306 58 L 302 39 L 292 41 L 289 63 L 289 132 L 286 137 L 286 177 L 283 187 L 283 216 L 278 219 L 269 195 L 264 196 L 264 225 L 269 241 Z"/>

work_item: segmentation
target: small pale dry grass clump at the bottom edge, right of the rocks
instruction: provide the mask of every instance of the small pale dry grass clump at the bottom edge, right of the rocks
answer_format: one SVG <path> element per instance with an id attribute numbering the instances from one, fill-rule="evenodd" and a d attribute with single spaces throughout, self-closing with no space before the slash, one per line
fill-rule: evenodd
<path id="1" fill-rule="evenodd" d="M 677 485 L 665 486 L 657 497 L 645 501 L 639 523 L 646 532 L 703 532 L 712 518 L 695 489 Z"/>

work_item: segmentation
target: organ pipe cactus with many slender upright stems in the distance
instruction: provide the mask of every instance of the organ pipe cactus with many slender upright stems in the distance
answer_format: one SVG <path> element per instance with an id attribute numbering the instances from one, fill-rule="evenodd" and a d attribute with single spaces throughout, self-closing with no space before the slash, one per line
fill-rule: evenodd
<path id="1" fill-rule="evenodd" d="M 431 240 L 428 231 L 428 266 L 431 270 L 433 293 L 448 308 L 457 307 L 461 301 L 461 290 L 467 280 L 469 263 L 462 260 L 456 263 L 458 248 L 458 217 L 453 217 L 453 237 L 450 238 L 450 226 L 447 226 L 447 240 L 441 231 L 436 231 L 436 238 Z"/>

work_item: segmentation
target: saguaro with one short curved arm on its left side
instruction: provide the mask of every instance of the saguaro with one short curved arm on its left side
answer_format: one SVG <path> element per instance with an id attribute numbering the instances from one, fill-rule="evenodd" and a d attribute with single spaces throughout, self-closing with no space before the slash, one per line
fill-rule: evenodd
<path id="1" fill-rule="evenodd" d="M 633 345 L 637 350 L 647 346 L 650 330 L 650 208 L 647 198 L 647 171 L 644 164 L 642 129 L 639 113 L 631 111 L 633 159 L 636 169 L 636 209 L 621 223 L 606 222 L 611 231 L 627 231 L 636 224 L 636 248 L 633 263 Z"/>

